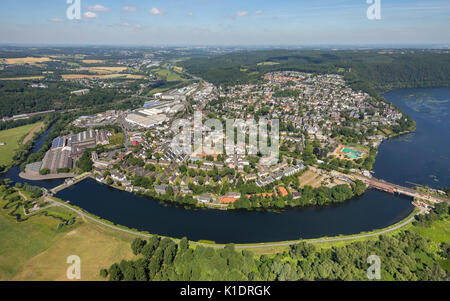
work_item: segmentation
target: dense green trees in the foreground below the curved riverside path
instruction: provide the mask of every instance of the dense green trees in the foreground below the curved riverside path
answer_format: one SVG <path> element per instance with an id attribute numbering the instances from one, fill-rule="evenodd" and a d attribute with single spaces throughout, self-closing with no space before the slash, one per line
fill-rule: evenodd
<path id="1" fill-rule="evenodd" d="M 448 204 L 438 207 L 431 217 L 414 222 L 414 228 L 448 222 Z M 219 249 L 189 246 L 186 238 L 177 244 L 156 236 L 137 238 L 131 248 L 135 260 L 114 263 L 100 275 L 112 281 L 368 280 L 367 258 L 376 254 L 381 280 L 450 280 L 450 244 L 433 244 L 414 229 L 330 248 L 301 242 L 276 255 L 257 256 L 233 244 Z"/>

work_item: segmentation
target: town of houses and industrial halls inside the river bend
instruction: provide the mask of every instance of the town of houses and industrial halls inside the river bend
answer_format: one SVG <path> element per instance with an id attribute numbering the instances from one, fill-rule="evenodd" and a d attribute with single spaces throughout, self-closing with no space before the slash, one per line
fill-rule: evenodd
<path id="1" fill-rule="evenodd" d="M 192 122 L 193 111 L 222 122 L 278 119 L 278 162 L 267 166 L 260 155 L 229 149 L 173 149 L 172 123 Z M 349 173 L 370 177 L 373 153 L 401 118 L 394 106 L 352 90 L 339 75 L 274 72 L 259 83 L 226 88 L 201 81 L 155 93 L 138 109 L 80 116 L 71 125 L 81 132 L 55 138 L 43 160 L 28 164 L 23 175 L 64 177 L 88 150 L 96 180 L 127 191 L 221 209 L 273 194 L 289 204 L 306 186 L 350 186 Z"/>

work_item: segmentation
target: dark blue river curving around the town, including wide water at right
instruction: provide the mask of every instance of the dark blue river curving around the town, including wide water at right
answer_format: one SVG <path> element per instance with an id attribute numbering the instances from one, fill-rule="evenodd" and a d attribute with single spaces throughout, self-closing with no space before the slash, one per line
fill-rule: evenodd
<path id="1" fill-rule="evenodd" d="M 417 131 L 385 141 L 380 146 L 374 165 L 376 177 L 402 185 L 411 181 L 432 187 L 450 186 L 449 96 L 450 89 L 446 88 L 395 90 L 385 95 L 413 117 Z M 47 181 L 41 184 L 49 185 Z M 59 192 L 57 197 L 129 228 L 217 243 L 355 234 L 392 225 L 413 209 L 408 198 L 368 190 L 344 204 L 288 209 L 283 213 L 185 210 L 113 189 L 92 179 Z"/>

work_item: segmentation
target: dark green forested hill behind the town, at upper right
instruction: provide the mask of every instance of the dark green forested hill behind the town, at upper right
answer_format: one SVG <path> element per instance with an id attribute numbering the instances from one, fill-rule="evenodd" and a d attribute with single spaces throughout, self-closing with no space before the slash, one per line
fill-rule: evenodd
<path id="1" fill-rule="evenodd" d="M 246 51 L 181 64 L 216 85 L 257 80 L 269 71 L 297 70 L 340 73 L 379 91 L 450 86 L 450 52 L 438 50 Z"/>

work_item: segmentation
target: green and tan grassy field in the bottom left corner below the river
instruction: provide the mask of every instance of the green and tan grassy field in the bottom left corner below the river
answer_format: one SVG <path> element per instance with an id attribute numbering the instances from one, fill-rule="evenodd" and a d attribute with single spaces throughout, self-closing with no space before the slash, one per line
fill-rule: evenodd
<path id="1" fill-rule="evenodd" d="M 5 204 L 0 201 L 0 204 Z M 81 280 L 102 280 L 101 268 L 133 257 L 130 243 L 134 237 L 117 234 L 98 225 L 78 221 L 57 230 L 60 221 L 53 217 L 33 216 L 16 222 L 0 209 L 0 281 L 2 280 L 67 280 L 66 259 L 81 259 Z M 55 207 L 52 214 L 71 215 L 67 209 Z"/>

